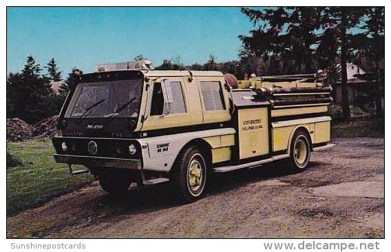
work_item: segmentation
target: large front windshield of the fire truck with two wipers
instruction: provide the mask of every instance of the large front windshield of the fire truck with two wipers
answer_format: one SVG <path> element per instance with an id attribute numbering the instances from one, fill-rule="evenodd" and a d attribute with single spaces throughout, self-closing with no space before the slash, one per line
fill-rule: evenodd
<path id="1" fill-rule="evenodd" d="M 142 80 L 80 83 L 65 117 L 137 117 L 141 92 Z"/>

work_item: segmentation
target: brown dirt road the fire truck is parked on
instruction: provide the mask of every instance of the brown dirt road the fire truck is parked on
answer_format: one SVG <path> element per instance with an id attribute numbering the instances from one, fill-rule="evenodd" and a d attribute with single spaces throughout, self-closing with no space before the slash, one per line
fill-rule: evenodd
<path id="1" fill-rule="evenodd" d="M 116 199 L 95 182 L 8 218 L 8 237 L 383 238 L 384 140 L 333 142 L 302 174 L 281 162 L 222 174 L 192 204 L 164 184 Z"/>

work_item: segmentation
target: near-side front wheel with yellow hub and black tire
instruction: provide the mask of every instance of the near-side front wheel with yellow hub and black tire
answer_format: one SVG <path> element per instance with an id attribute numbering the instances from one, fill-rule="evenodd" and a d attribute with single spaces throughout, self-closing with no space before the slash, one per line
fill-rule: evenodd
<path id="1" fill-rule="evenodd" d="M 202 197 L 207 184 L 208 161 L 200 147 L 192 145 L 182 150 L 173 167 L 173 183 L 184 203 Z"/>

